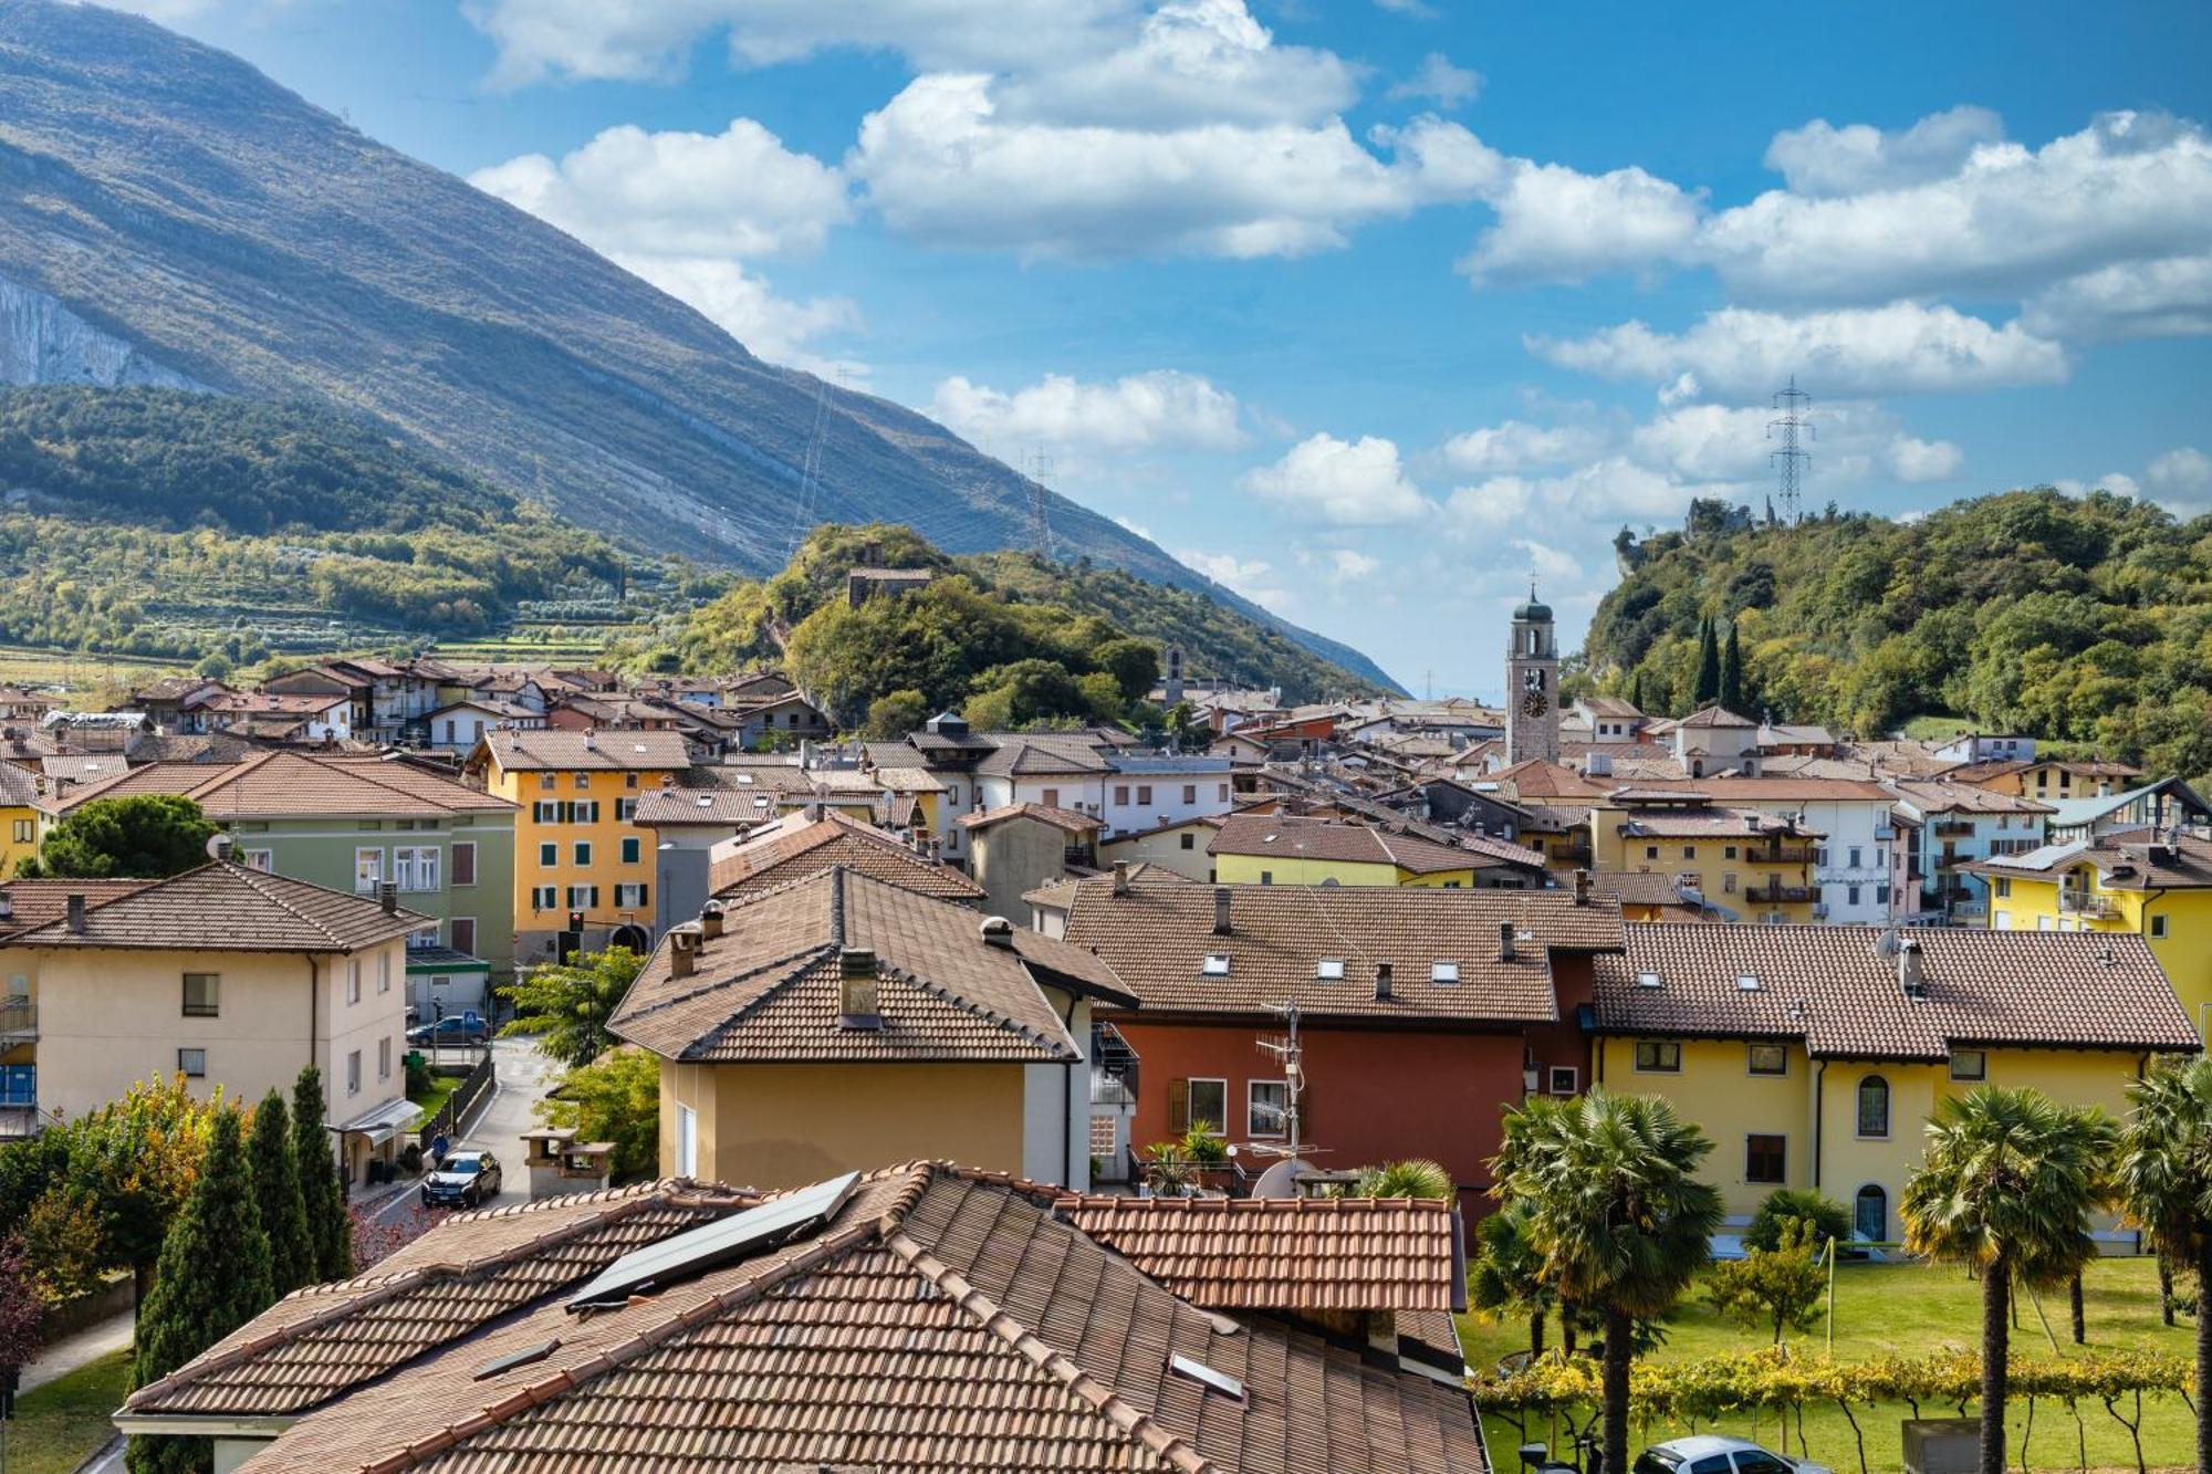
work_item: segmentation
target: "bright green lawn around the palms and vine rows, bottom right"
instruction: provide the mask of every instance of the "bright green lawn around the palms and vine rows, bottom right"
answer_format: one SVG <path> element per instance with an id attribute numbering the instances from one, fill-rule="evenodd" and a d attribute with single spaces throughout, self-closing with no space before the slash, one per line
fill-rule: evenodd
<path id="1" fill-rule="evenodd" d="M 2172 1354 L 2194 1354 L 2194 1324 L 2181 1319 L 2179 1326 L 2159 1321 L 2159 1279 L 2150 1259 L 2104 1259 L 2090 1268 L 2086 1279 L 2088 1348 L 2090 1350 L 2161 1350 Z M 2073 1352 L 2066 1324 L 2066 1295 L 2044 1297 L 2044 1315 L 2059 1339 L 2059 1354 Z M 1980 1339 L 1982 1288 L 1966 1279 L 1962 1270 L 1920 1264 L 1845 1264 L 1836 1270 L 1836 1357 L 1856 1359 L 1882 1352 L 1931 1352 L 1947 1346 L 1973 1348 Z M 1546 1328 L 1551 1343 L 1557 1343 L 1557 1324 Z M 1467 1343 L 1471 1366 L 1493 1366 L 1506 1352 L 1528 1346 L 1524 1321 L 1502 1324 L 1469 1315 L 1460 1319 L 1460 1337 Z M 1686 1361 L 1721 1352 L 1741 1352 L 1761 1346 L 1763 1339 L 1741 1332 L 1734 1324 L 1719 1319 L 1705 1301 L 1692 1293 L 1690 1299 L 1668 1321 L 1668 1341 L 1655 1352 L 1659 1359 Z M 1827 1328 L 1816 1328 L 1801 1339 L 1812 1352 L 1827 1348 Z M 2035 1308 L 2022 1301 L 2022 1324 L 2013 1332 L 2013 1359 L 2051 1357 L 2051 1341 L 2044 1339 Z M 2132 1403 L 2119 1408 L 2135 1416 Z M 1911 1416 L 1905 1405 L 1854 1408 L 1858 1425 L 1867 1436 L 1867 1467 L 1874 1472 L 1902 1470 L 1902 1447 L 1898 1423 Z M 1971 1412 L 1971 1408 L 1969 1408 Z M 1922 1405 L 1924 1416 L 1958 1416 L 1958 1408 Z M 2020 1439 L 2026 1432 L 2028 1408 L 2015 1399 L 2006 1425 L 2017 1467 Z M 1513 1450 L 1522 1443 L 1522 1430 L 1502 1416 L 1484 1416 L 1491 1441 L 1491 1459 L 1502 1474 L 1517 1474 Z M 1544 1428 L 1531 1425 L 1528 1436 L 1546 1436 Z M 1688 1428 L 1644 1428 L 1632 1430 L 1632 1439 L 1657 1443 L 1692 1432 Z M 1781 1450 L 1772 1416 L 1763 1428 L 1750 1416 L 1728 1419 L 1714 1428 L 1697 1432 L 1732 1432 L 1759 1439 L 1767 1447 Z M 1790 1452 L 1796 1454 L 1796 1423 L 1792 1421 Z M 2143 1459 L 2152 1470 L 2183 1470 L 2194 1461 L 2194 1421 L 2179 1401 L 2143 1401 Z M 2135 1443 L 2101 1403 L 2081 1405 L 2081 1432 L 2062 1403 L 2039 1401 L 2035 1405 L 2035 1428 L 2028 1441 L 2031 1470 L 2077 1470 L 2081 1450 L 2077 1436 L 2086 1436 L 2088 1467 L 2135 1470 Z M 1829 1465 L 1838 1474 L 1858 1470 L 1858 1452 L 1851 1425 L 1843 1412 L 1829 1408 L 1805 1410 L 1805 1454 Z"/>

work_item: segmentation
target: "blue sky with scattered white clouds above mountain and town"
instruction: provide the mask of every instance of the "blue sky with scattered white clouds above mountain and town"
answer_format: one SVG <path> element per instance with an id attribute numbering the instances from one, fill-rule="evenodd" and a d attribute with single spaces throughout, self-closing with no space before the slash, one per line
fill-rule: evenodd
<path id="1" fill-rule="evenodd" d="M 133 0 L 1495 697 L 1613 536 L 2020 485 L 2212 509 L 2212 9 Z"/>

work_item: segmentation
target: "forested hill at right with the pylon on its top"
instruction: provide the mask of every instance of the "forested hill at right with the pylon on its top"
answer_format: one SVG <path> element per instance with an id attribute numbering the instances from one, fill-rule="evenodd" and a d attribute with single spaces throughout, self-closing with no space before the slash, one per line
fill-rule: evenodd
<path id="1" fill-rule="evenodd" d="M 1688 710 L 1710 617 L 1734 622 L 1745 704 L 1776 717 L 1876 735 L 1955 713 L 2212 770 L 2212 516 L 2048 487 L 1916 522 L 1701 505 L 1688 531 L 1619 547 L 1582 675 L 1650 710 Z"/>

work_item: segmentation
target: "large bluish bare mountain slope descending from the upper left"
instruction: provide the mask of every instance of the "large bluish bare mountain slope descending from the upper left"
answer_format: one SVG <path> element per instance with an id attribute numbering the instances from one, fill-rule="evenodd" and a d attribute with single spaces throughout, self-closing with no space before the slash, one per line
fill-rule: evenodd
<path id="1" fill-rule="evenodd" d="M 573 520 L 765 573 L 807 520 L 1024 542 L 1031 482 L 945 427 L 745 352 L 551 226 L 237 58 L 0 0 L 0 374 L 314 394 Z M 821 398 L 818 485 L 801 465 Z M 1068 556 L 1201 589 L 1048 496 Z"/>

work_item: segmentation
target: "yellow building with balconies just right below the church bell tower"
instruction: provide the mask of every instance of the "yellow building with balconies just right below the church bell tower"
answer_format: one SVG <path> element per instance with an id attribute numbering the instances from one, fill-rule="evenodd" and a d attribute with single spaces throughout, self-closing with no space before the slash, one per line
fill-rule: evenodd
<path id="1" fill-rule="evenodd" d="M 1820 839 L 1794 814 L 1721 808 L 1688 790 L 1621 788 L 1590 808 L 1597 872 L 1670 876 L 1721 921 L 1812 921 Z"/>

